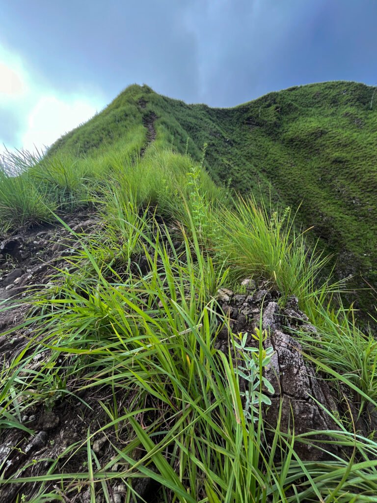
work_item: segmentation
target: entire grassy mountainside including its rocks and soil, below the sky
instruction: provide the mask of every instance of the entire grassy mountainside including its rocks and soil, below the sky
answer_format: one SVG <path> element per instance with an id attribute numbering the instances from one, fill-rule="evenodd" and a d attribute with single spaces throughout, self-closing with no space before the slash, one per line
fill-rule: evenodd
<path id="1" fill-rule="evenodd" d="M 0 501 L 375 502 L 375 333 L 305 232 L 371 260 L 369 91 L 214 110 L 131 86 L 2 160 Z"/>

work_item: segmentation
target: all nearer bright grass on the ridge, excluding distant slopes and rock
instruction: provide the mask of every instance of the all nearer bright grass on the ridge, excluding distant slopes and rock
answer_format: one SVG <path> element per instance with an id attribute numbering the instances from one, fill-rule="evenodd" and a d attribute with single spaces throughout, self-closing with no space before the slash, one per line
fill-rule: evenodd
<path id="1" fill-rule="evenodd" d="M 63 397 L 77 400 L 79 391 L 104 386 L 112 390 L 111 400 L 102 403 L 108 422 L 92 425 L 43 474 L 26 476 L 22 466 L 17 477 L 0 484 L 37 483 L 34 503 L 72 497 L 78 486 L 88 488 L 91 501 L 99 494 L 111 501 L 109 484 L 115 481 L 124 483 L 129 501 L 132 481 L 140 477 L 161 484 L 161 502 L 375 501 L 373 436 L 357 433 L 351 416 L 334 418 L 339 430 L 321 433 L 349 453 L 340 458 L 315 433 L 295 435 L 294 427 L 283 432 L 278 421 L 267 445 L 260 401 L 256 413 L 249 411 L 251 421 L 243 410 L 236 372 L 244 362 L 215 349 L 216 335 L 228 323 L 217 305 L 218 289 L 253 276 L 278 288 L 283 299 L 300 298 L 318 329 L 315 340 L 298 334 L 308 358 L 353 393 L 360 408 L 376 407 L 375 344 L 344 309 L 334 314 L 323 308 L 326 294 L 339 287 L 320 281 L 326 259 L 308 254 L 304 233 L 295 234 L 287 213 L 270 215 L 251 199 L 230 203 L 189 156 L 150 148 L 139 165 L 128 156 L 106 163 L 105 174 L 96 168 L 88 176 L 95 186 L 84 184 L 86 204 L 99 209 L 104 227 L 100 234 L 76 236 L 81 251 L 69 259 L 70 267 L 57 270 L 54 285 L 31 299 L 27 351 L 1 375 L 0 428 L 27 432 L 21 417 L 28 407 L 49 410 Z M 79 174 L 76 182 L 80 170 L 70 171 Z M 37 186 L 38 198 L 47 201 L 46 185 L 52 193 L 58 180 L 39 177 L 44 189 Z M 11 204 L 18 190 L 14 185 Z M 71 199 L 77 206 L 83 200 Z M 28 370 L 46 351 L 42 368 Z M 261 347 L 258 359 L 262 364 Z M 260 383 L 259 400 L 262 391 Z M 108 436 L 117 452 L 106 466 L 93 451 L 98 434 Z M 328 451 L 330 461 L 302 461 L 299 443 Z M 143 454 L 136 458 L 140 446 Z M 82 453 L 79 473 L 64 469 Z M 116 465 L 121 469 L 113 471 Z"/>

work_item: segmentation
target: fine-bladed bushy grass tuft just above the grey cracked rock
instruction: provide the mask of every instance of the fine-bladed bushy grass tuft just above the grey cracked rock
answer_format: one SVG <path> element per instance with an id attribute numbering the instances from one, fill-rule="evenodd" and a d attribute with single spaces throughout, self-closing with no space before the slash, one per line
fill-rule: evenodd
<path id="1" fill-rule="evenodd" d="M 282 302 L 297 296 L 305 310 L 316 294 L 338 291 L 341 285 L 323 278 L 330 257 L 310 248 L 306 231 L 297 232 L 294 221 L 290 208 L 269 212 L 253 196 L 240 198 L 236 211 L 223 209 L 220 251 L 229 257 L 236 277 L 254 275 L 274 285 Z"/>

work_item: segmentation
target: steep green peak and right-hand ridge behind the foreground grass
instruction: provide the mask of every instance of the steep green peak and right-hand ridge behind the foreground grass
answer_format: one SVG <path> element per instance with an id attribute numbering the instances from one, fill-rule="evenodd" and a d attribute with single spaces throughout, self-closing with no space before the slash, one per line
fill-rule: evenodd
<path id="1" fill-rule="evenodd" d="M 327 250 L 337 253 L 339 277 L 353 287 L 377 285 L 377 113 L 373 89 L 355 82 L 325 82 L 270 93 L 232 109 L 187 105 L 130 86 L 102 113 L 50 149 L 93 152 L 147 141 L 153 118 L 157 146 L 186 149 L 213 178 L 243 194 L 299 208 Z M 150 133 L 149 133 L 150 134 Z M 270 195 L 269 195 L 270 194 Z M 360 276 L 361 273 L 361 276 Z M 369 294 L 363 293 L 362 297 Z M 369 296 L 369 308 L 373 297 Z"/>

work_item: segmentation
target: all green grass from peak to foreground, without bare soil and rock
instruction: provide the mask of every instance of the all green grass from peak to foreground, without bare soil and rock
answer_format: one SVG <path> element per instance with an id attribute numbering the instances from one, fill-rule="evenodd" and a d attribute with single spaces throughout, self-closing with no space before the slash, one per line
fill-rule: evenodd
<path id="1" fill-rule="evenodd" d="M 77 402 L 79 391 L 100 395 L 104 386 L 112 393 L 101 402 L 105 422 L 90 425 L 85 438 L 67 445 L 39 475 L 28 477 L 21 466 L 17 478 L 0 484 L 33 481 L 33 503 L 62 500 L 61 492 L 73 497 L 81 485 L 92 501 L 98 494 L 111 501 L 115 481 L 131 498 L 132 480 L 143 476 L 161 484 L 161 503 L 375 500 L 375 432 L 364 436 L 355 423 L 377 407 L 375 339 L 358 327 L 357 311 L 338 299 L 345 285 L 327 274 L 330 259 L 307 230 L 321 221 L 332 232 L 337 219 L 331 246 L 347 240 L 354 257 L 361 247 L 369 250 L 362 236 L 366 226 L 373 229 L 372 212 L 359 220 L 358 211 L 370 202 L 375 173 L 374 111 L 363 112 L 361 139 L 344 123 L 351 117 L 360 127 L 352 114 L 361 113 L 367 96 L 366 87 L 335 82 L 215 110 L 132 86 L 46 156 L 9 155 L 0 170 L 2 232 L 43 222 L 66 226 L 62 217 L 84 207 L 97 210 L 101 227 L 76 234 L 80 247 L 67 267 L 56 269 L 50 288 L 25 300 L 31 310 L 19 328 L 30 330 L 29 342 L 0 372 L 0 434 L 10 428 L 33 434 L 21 421 L 30 406 L 51 410 L 63 398 Z M 156 139 L 147 145 L 143 124 L 152 112 Z M 347 220 L 344 187 L 338 193 L 316 177 L 326 172 L 345 181 L 356 145 L 354 194 L 365 189 L 365 200 Z M 353 247 L 355 229 L 360 249 Z M 317 235 L 325 236 L 318 226 Z M 347 405 L 341 417 L 324 411 L 338 430 L 321 432 L 321 441 L 318 432 L 296 435 L 294 425 L 283 432 L 278 418 L 267 445 L 261 342 L 252 364 L 215 347 L 229 323 L 217 291 L 236 290 L 245 277 L 278 289 L 281 303 L 299 298 L 317 330 L 295 334 L 306 359 L 318 378 L 354 402 L 356 416 Z M 231 333 L 231 348 L 242 344 L 238 337 Z M 30 368 L 42 354 L 48 355 L 43 365 Z M 249 410 L 237 377 L 241 366 L 255 370 L 258 403 Z M 106 466 L 92 449 L 98 434 L 117 453 Z M 302 461 L 299 444 L 325 450 L 330 461 Z M 342 447 L 341 457 L 329 444 Z M 143 455 L 135 458 L 140 447 Z M 70 469 L 77 463 L 78 472 Z M 113 471 L 116 464 L 122 469 Z"/>

